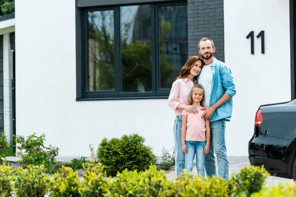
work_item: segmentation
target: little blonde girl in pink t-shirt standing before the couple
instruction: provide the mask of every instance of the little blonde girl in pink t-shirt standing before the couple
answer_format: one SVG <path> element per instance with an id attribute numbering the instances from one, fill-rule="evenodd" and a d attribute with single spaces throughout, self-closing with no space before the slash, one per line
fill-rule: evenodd
<path id="1" fill-rule="evenodd" d="M 204 89 L 200 84 L 193 86 L 189 105 L 196 108 L 199 113 L 194 114 L 183 110 L 182 112 L 182 151 L 185 153 L 186 173 L 192 171 L 194 156 L 196 155 L 196 168 L 200 176 L 205 176 L 205 155 L 210 151 L 210 120 L 201 118 L 204 107 Z"/>

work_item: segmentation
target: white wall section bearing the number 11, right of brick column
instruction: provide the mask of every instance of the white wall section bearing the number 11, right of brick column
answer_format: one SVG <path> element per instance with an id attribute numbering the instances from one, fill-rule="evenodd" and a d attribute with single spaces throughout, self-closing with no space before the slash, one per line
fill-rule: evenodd
<path id="1" fill-rule="evenodd" d="M 254 31 L 255 53 L 251 54 Z M 265 33 L 265 54 L 261 39 Z M 225 63 L 237 87 L 227 124 L 229 155 L 246 155 L 261 104 L 291 100 L 289 0 L 224 0 Z"/>

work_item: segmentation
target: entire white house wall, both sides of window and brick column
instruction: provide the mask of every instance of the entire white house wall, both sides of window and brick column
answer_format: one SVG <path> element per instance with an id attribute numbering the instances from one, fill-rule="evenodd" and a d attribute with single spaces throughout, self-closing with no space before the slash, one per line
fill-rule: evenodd
<path id="1" fill-rule="evenodd" d="M 75 100 L 74 0 L 16 0 L 15 9 L 17 134 L 45 133 L 60 156 L 88 156 L 89 144 L 134 132 L 156 155 L 172 148 L 175 115 L 167 99 Z M 251 55 L 246 35 L 261 30 L 265 54 L 255 38 Z M 246 156 L 258 106 L 291 98 L 289 1 L 224 0 L 224 32 L 237 86 L 227 150 Z"/>

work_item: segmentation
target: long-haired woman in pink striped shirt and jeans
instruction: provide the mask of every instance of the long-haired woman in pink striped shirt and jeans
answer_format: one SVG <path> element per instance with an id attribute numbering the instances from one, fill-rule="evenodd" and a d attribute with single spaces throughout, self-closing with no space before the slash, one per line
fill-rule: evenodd
<path id="1" fill-rule="evenodd" d="M 185 168 L 185 153 L 182 151 L 182 111 L 196 114 L 198 110 L 192 105 L 188 105 L 188 98 L 192 87 L 196 84 L 196 76 L 204 66 L 204 61 L 198 56 L 190 57 L 181 68 L 179 77 L 172 85 L 169 96 L 169 107 L 176 113 L 174 124 L 175 139 L 175 176 L 178 176 Z"/>

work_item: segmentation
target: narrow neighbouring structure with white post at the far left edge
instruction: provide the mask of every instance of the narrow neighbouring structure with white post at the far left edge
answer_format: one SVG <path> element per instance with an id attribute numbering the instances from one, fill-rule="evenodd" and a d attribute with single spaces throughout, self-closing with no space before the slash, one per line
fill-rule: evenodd
<path id="1" fill-rule="evenodd" d="M 0 16 L 0 133 L 15 133 L 15 18 Z"/>

